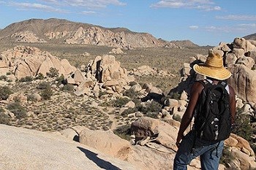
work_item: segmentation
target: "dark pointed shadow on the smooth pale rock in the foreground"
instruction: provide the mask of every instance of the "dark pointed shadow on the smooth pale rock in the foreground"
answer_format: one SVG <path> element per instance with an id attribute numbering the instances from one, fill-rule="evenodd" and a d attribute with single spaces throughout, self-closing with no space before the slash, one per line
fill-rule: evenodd
<path id="1" fill-rule="evenodd" d="M 108 161 L 104 161 L 101 158 L 99 158 L 97 153 L 91 152 L 90 150 L 86 150 L 83 147 L 78 147 L 78 149 L 86 155 L 89 160 L 94 161 L 94 163 L 97 164 L 102 169 L 107 169 L 107 170 L 121 170 L 118 167 L 114 166 L 112 163 Z"/>

